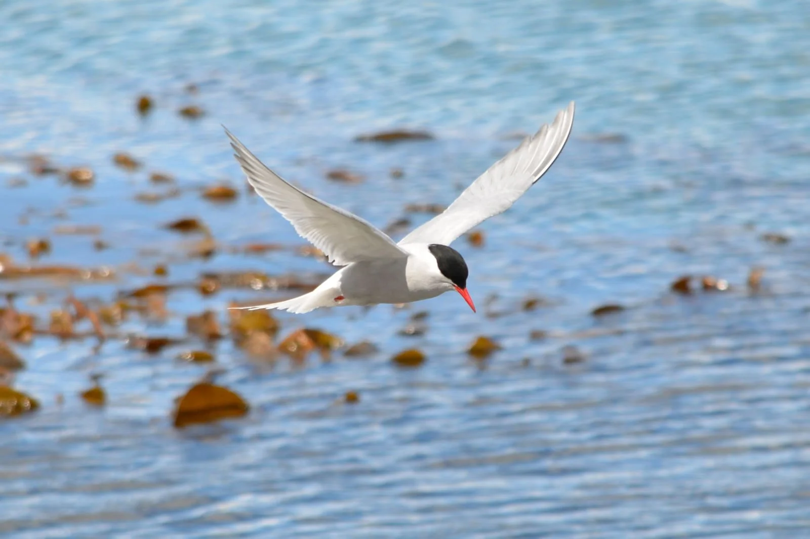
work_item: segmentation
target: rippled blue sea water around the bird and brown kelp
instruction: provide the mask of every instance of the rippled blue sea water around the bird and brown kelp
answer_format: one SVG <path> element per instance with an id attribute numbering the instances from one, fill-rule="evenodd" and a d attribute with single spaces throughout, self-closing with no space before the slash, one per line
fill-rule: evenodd
<path id="1" fill-rule="evenodd" d="M 0 423 L 3 537 L 810 533 L 807 2 L 9 1 L 0 21 L 0 251 L 24 261 L 26 240 L 49 237 L 43 263 L 119 275 L 0 279 L 45 317 L 68 291 L 108 301 L 156 281 L 133 262 L 166 263 L 169 283 L 328 274 L 290 251 L 177 256 L 181 240 L 160 224 L 184 216 L 220 245 L 303 243 L 258 197 L 199 197 L 213 181 L 241 185 L 221 125 L 382 227 L 409 203 L 452 202 L 515 133 L 578 104 L 551 172 L 480 227 L 483 247 L 458 241 L 488 315 L 449 294 L 281 314 L 282 334 L 307 325 L 380 350 L 269 366 L 224 339 L 218 383 L 250 414 L 185 430 L 172 427 L 173 399 L 207 367 L 178 363 L 175 348 L 15 346 L 28 363 L 15 387 L 41 408 Z M 141 118 L 144 93 L 155 109 Z M 177 114 L 190 104 L 205 116 Z M 436 138 L 354 141 L 391 128 Z M 143 170 L 117 168 L 117 151 Z M 32 176 L 32 154 L 88 165 L 96 183 Z M 333 168 L 365 180 L 327 180 Z M 148 170 L 176 176 L 180 196 L 136 202 Z M 62 223 L 100 226 L 110 248 L 54 236 Z M 753 266 L 765 269 L 758 291 L 746 286 Z M 731 289 L 672 293 L 684 274 Z M 123 331 L 181 337 L 184 315 L 225 320 L 229 301 L 260 296 L 173 292 L 168 320 L 135 317 Z M 523 311 L 532 296 L 539 308 Z M 605 303 L 626 309 L 590 315 Z M 400 335 L 421 310 L 427 331 Z M 503 349 L 471 359 L 478 335 Z M 583 360 L 565 363 L 568 346 Z M 394 367 L 409 347 L 428 361 Z M 77 396 L 94 372 L 103 410 Z M 356 405 L 342 404 L 349 390 Z"/>

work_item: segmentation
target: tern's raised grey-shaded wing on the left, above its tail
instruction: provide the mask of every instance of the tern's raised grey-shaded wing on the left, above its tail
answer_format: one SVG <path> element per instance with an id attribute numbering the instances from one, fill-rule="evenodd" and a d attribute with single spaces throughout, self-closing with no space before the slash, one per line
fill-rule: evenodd
<path id="1" fill-rule="evenodd" d="M 330 262 L 347 265 L 364 260 L 407 257 L 407 253 L 382 231 L 356 215 L 288 184 L 250 153 L 228 129 L 225 133 L 236 151 L 234 157 L 256 193 L 292 223 L 302 238 L 321 249 Z"/>

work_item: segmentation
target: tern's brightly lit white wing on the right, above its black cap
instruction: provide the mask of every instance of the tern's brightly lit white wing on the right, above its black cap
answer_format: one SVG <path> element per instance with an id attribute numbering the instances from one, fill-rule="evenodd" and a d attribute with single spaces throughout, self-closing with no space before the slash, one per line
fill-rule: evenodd
<path id="1" fill-rule="evenodd" d="M 443 213 L 417 227 L 399 244 L 450 243 L 478 223 L 512 206 L 560 155 L 573 124 L 573 101 L 520 146 L 493 164 Z"/>

